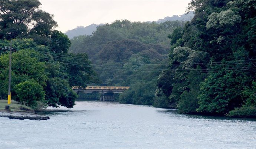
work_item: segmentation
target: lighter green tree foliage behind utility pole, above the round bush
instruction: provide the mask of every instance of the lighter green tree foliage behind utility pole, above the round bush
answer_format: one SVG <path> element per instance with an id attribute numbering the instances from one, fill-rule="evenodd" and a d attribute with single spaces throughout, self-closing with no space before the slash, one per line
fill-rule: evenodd
<path id="1" fill-rule="evenodd" d="M 45 74 L 45 63 L 39 62 L 36 57 L 30 56 L 35 54 L 33 50 L 20 50 L 12 54 L 12 88 L 24 81 L 33 79 L 41 86 L 45 86 L 47 76 Z M 8 93 L 8 76 L 9 76 L 9 54 L 0 56 L 0 95 L 6 97 Z M 16 100 L 16 92 L 13 90 L 12 98 Z M 17 100 L 19 100 L 17 98 Z"/>

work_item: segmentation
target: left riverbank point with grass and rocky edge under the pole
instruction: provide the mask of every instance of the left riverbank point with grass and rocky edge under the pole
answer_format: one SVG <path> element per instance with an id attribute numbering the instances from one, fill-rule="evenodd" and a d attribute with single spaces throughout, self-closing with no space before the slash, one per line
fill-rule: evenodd
<path id="1" fill-rule="evenodd" d="M 35 113 L 35 111 L 25 105 L 17 104 L 17 102 L 12 101 L 10 104 L 10 109 L 5 109 L 7 106 L 7 100 L 0 100 L 0 117 L 9 117 L 9 119 L 30 119 L 30 120 L 47 120 L 50 119 L 49 116 L 42 116 Z"/>

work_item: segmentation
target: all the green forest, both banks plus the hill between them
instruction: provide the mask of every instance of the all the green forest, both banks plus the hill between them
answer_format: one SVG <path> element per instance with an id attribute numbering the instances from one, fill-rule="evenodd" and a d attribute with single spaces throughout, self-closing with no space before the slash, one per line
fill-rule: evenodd
<path id="1" fill-rule="evenodd" d="M 116 20 L 69 40 L 38 0 L 0 1 L 0 99 L 73 107 L 72 86 L 130 86 L 120 103 L 256 116 L 256 0 L 191 0 L 191 21 Z M 92 97 L 98 95 L 80 95 Z"/>

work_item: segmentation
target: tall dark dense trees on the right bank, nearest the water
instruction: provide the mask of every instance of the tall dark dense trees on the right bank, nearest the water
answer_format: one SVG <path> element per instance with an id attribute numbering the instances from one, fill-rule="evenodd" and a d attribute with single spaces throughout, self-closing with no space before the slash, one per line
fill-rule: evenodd
<path id="1" fill-rule="evenodd" d="M 182 113 L 256 115 L 256 1 L 192 0 L 171 38 L 157 96 Z"/>

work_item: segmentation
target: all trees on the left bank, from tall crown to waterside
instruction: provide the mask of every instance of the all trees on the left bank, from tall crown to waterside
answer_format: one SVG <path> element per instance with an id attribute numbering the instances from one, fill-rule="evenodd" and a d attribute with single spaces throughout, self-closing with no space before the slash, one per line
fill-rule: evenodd
<path id="1" fill-rule="evenodd" d="M 68 36 L 54 30 L 56 21 L 40 5 L 38 0 L 0 1 L 0 99 L 7 99 L 9 49 L 13 48 L 12 99 L 34 109 L 72 108 L 77 94 L 71 87 L 85 87 L 94 81 L 95 72 L 72 63 L 88 56 L 68 54 Z"/>

